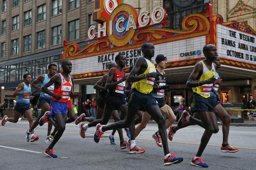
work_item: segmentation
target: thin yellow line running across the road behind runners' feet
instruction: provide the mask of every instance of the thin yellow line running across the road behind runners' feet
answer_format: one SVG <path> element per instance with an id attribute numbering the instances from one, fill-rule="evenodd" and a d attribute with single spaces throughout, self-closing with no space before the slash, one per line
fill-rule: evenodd
<path id="1" fill-rule="evenodd" d="M 1 128 L 5 128 L 5 129 L 14 129 L 14 130 L 26 130 L 26 129 L 21 129 L 21 128 L 7 128 L 7 127 L 1 127 Z M 40 131 L 40 132 L 47 132 L 46 130 L 35 130 L 35 131 Z M 65 132 L 64 133 L 70 133 L 70 134 L 79 134 L 77 132 Z M 91 134 L 91 133 L 85 133 L 86 135 L 94 135 L 94 134 Z M 103 136 L 109 136 L 109 135 L 103 135 Z M 124 138 L 127 138 L 127 137 L 124 137 Z M 136 138 L 136 139 L 141 139 L 141 140 L 153 140 L 154 139 L 149 139 L 149 138 Z M 185 142 L 185 141 L 169 141 L 169 143 L 172 143 L 172 142 L 175 142 L 175 143 L 185 143 L 185 144 L 197 144 L 197 145 L 200 145 L 200 143 L 196 143 L 196 142 Z M 207 144 L 208 146 L 221 146 L 221 145 L 217 145 L 217 144 Z M 235 147 L 235 148 L 243 148 L 243 149 L 255 149 L 254 147 L 243 147 L 243 146 L 232 146 L 232 147 Z"/>

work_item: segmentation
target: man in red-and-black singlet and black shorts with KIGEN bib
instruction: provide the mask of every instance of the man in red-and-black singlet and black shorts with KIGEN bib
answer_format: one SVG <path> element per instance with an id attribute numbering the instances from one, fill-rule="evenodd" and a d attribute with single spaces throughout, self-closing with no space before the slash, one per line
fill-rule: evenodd
<path id="1" fill-rule="evenodd" d="M 127 106 L 125 101 L 125 80 L 127 76 L 122 71 L 126 66 L 126 57 L 124 55 L 118 54 L 115 57 L 116 67 L 109 70 L 109 75 L 106 81 L 105 89 L 108 89 L 108 93 L 105 97 L 105 108 L 103 113 L 103 118 L 96 119 L 89 124 L 80 123 L 80 136 L 85 138 L 85 132 L 89 127 L 96 126 L 97 124 L 107 124 L 113 110 L 120 109 L 121 112 L 126 114 Z M 100 82 L 101 83 L 101 82 Z M 105 81 L 102 81 L 105 83 Z M 117 115 L 119 117 L 119 115 Z M 120 117 L 118 121 L 120 121 Z M 135 127 L 134 127 L 135 128 Z M 118 128 L 117 128 L 118 129 Z M 120 138 L 120 148 L 125 149 L 125 141 L 122 135 L 122 129 L 118 130 Z M 95 139 L 97 141 L 97 139 Z"/>

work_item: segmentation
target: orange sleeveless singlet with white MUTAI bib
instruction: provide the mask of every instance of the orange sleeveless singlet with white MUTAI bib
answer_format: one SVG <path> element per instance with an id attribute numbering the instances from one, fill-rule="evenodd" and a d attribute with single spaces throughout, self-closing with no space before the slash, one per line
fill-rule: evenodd
<path id="1" fill-rule="evenodd" d="M 58 102 L 68 102 L 68 98 L 70 97 L 70 92 L 72 89 L 72 81 L 71 81 L 71 77 L 69 76 L 69 81 L 67 81 L 64 76 L 60 74 L 61 77 L 61 85 L 58 89 L 56 89 L 54 87 L 53 89 L 53 93 L 56 95 L 61 95 L 62 98 L 60 100 L 55 99 L 54 97 L 52 97 L 52 101 L 58 101 Z"/>

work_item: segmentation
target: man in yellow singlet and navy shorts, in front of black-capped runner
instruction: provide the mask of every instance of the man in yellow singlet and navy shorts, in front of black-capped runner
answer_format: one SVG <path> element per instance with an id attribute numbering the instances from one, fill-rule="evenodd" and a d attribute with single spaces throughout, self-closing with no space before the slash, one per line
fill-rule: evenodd
<path id="1" fill-rule="evenodd" d="M 154 63 L 151 61 L 151 58 L 154 56 L 154 45 L 151 43 L 144 43 L 141 47 L 141 51 L 143 52 L 143 57 L 138 58 L 127 79 L 128 82 L 134 83 L 132 84 L 132 91 L 128 99 L 126 119 L 106 126 L 98 124 L 96 126 L 94 137 L 95 141 L 99 142 L 100 137 L 105 131 L 116 128 L 127 128 L 131 124 L 134 124 L 134 116 L 138 110 L 147 111 L 158 124 L 164 148 L 164 165 L 180 163 L 183 161 L 183 158 L 178 158 L 174 154 L 170 154 L 167 144 L 165 118 L 161 114 L 156 99 L 150 94 L 153 90 L 154 80 L 159 78 Z M 126 141 L 129 153 L 144 153 L 145 150 L 142 150 L 135 144 L 135 131 L 132 131 L 132 129 L 130 130 L 131 141 Z"/>

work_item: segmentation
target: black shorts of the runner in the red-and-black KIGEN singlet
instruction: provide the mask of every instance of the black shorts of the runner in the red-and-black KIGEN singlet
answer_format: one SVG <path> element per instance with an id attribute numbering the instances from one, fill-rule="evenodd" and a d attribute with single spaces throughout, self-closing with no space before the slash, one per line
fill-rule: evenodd
<path id="1" fill-rule="evenodd" d="M 107 94 L 105 97 L 106 107 L 111 110 L 118 110 L 123 104 L 126 104 L 125 95 Z"/>

